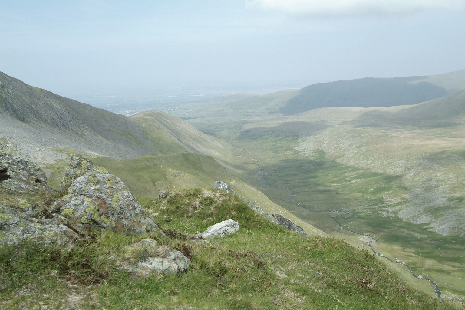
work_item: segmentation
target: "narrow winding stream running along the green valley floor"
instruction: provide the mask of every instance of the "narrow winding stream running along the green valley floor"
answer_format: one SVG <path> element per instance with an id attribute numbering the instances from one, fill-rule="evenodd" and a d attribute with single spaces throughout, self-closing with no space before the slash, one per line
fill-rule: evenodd
<path id="1" fill-rule="evenodd" d="M 234 145 L 232 145 L 232 146 L 234 146 Z M 236 146 L 234 146 L 234 147 L 237 149 Z M 245 154 L 245 150 L 243 149 L 243 150 L 242 150 L 242 153 L 235 154 L 234 157 L 242 157 L 242 158 L 245 158 L 244 156 L 242 156 L 242 155 L 244 155 L 244 154 Z M 270 185 L 266 184 L 265 182 L 263 182 L 263 178 L 265 178 L 266 176 L 268 176 L 268 175 L 270 175 L 270 174 L 269 174 L 269 173 L 261 172 L 262 168 L 257 164 L 257 163 L 260 162 L 261 160 L 255 160 L 255 158 L 245 158 L 245 159 L 252 159 L 250 162 L 248 162 L 248 164 L 257 165 L 257 168 L 259 168 L 258 172 L 259 172 L 260 174 L 262 174 L 261 178 L 259 179 L 259 182 L 260 182 L 261 184 L 263 184 L 263 185 L 265 185 L 265 186 L 267 186 L 267 187 L 272 187 L 272 188 L 281 189 L 281 187 L 270 186 Z M 288 191 L 291 192 L 290 195 L 289 195 L 290 197 L 289 197 L 289 199 L 286 200 L 286 202 L 287 202 L 287 203 L 290 203 L 290 204 L 295 204 L 295 203 L 291 202 L 291 200 L 292 200 L 292 198 L 293 198 L 293 196 L 294 196 L 294 191 L 292 191 L 291 188 L 286 188 L 286 187 L 283 187 L 283 189 L 286 189 L 286 190 L 288 190 Z M 308 209 L 308 208 L 306 208 L 306 207 L 303 207 L 303 206 L 301 206 L 301 205 L 299 205 L 299 204 L 295 204 L 295 205 L 297 205 L 297 206 L 299 206 L 299 207 L 301 207 L 301 208 L 304 208 L 304 209 L 306 209 L 306 210 L 308 210 L 308 211 L 310 211 L 310 212 L 313 212 L 312 210 L 310 210 L 310 209 Z M 322 211 L 322 212 L 339 212 L 339 211 Z M 338 217 L 340 217 L 340 216 L 343 216 L 343 215 L 347 215 L 347 214 L 349 214 L 349 213 L 350 213 L 350 212 L 344 212 L 344 214 L 341 214 L 341 215 L 338 215 L 338 216 L 334 216 L 334 217 L 332 216 L 331 218 L 332 218 L 332 220 L 339 226 L 340 229 L 343 229 L 343 230 L 345 230 L 345 231 L 349 231 L 349 232 L 351 232 L 351 233 L 353 233 L 353 234 L 356 234 L 356 235 L 359 235 L 359 236 L 369 237 L 369 238 L 371 239 L 371 241 L 365 242 L 365 244 L 370 248 L 370 250 L 372 250 L 373 253 L 375 253 L 375 255 L 377 255 L 377 256 L 379 256 L 379 257 L 384 257 L 385 259 L 387 259 L 388 261 L 390 261 L 390 262 L 392 262 L 392 263 L 403 265 L 403 266 L 405 266 L 405 268 L 407 268 L 407 269 L 410 271 L 410 274 L 411 274 L 413 277 L 416 277 L 417 279 L 420 279 L 420 280 L 425 280 L 425 281 L 430 282 L 430 283 L 433 285 L 433 287 L 434 287 L 434 288 L 433 288 L 434 293 L 435 293 L 440 299 L 443 299 L 443 297 L 441 296 L 441 291 L 439 290 L 438 284 L 436 284 L 436 282 L 434 282 L 433 280 L 430 280 L 430 279 L 428 279 L 428 278 L 415 275 L 415 273 L 413 273 L 413 270 L 410 268 L 410 266 L 409 266 L 408 264 L 405 264 L 404 262 L 401 262 L 401 261 L 399 261 L 399 260 L 393 260 L 393 259 L 391 259 L 391 258 L 385 256 L 384 254 L 375 251 L 375 250 L 373 249 L 373 246 L 372 246 L 372 243 L 377 243 L 377 242 L 378 242 L 378 240 L 377 240 L 375 237 L 373 237 L 373 236 L 370 235 L 369 233 L 361 234 L 361 233 L 358 233 L 358 232 L 355 232 L 355 231 L 351 231 L 351 230 L 349 230 L 349 229 L 346 229 L 346 228 L 342 227 L 342 225 L 339 224 L 339 222 L 336 220 L 336 218 L 338 218 Z"/>

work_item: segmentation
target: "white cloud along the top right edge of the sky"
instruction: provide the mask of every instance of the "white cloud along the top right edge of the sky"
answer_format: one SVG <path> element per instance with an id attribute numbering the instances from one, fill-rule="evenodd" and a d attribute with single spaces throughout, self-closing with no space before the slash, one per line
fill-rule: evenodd
<path id="1" fill-rule="evenodd" d="M 428 9 L 465 9 L 464 0 L 245 0 L 248 9 L 302 16 L 402 15 Z"/>

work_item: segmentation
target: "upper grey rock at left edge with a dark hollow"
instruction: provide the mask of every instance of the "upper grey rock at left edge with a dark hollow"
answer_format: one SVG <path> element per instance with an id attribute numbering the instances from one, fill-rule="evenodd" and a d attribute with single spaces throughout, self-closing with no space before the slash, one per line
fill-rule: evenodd
<path id="1" fill-rule="evenodd" d="M 7 152 L 0 152 L 0 186 L 15 194 L 54 191 L 36 163 Z"/>

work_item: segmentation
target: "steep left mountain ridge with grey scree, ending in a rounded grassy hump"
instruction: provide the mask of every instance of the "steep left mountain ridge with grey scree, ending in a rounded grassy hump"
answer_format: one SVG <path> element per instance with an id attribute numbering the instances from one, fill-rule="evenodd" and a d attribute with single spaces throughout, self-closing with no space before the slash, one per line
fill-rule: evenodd
<path id="1" fill-rule="evenodd" d="M 150 118 L 116 114 L 0 73 L 0 146 L 40 162 L 52 163 L 62 157 L 57 149 L 66 148 L 120 159 L 186 151 L 219 155 L 215 149 L 223 145 L 182 123 L 164 112 Z"/>

